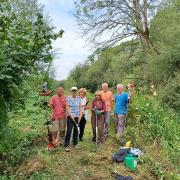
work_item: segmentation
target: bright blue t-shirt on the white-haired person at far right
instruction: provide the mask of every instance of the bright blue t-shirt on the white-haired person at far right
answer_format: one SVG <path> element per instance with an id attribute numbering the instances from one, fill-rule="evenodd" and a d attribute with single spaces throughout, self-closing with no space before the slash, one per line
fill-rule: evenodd
<path id="1" fill-rule="evenodd" d="M 128 94 L 121 93 L 115 94 L 115 114 L 127 114 L 127 105 L 128 105 Z"/>

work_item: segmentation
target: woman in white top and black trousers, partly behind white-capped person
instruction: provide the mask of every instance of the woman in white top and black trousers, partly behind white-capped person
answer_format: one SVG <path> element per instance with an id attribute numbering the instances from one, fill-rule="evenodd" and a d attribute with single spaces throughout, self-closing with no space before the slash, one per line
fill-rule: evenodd
<path id="1" fill-rule="evenodd" d="M 82 106 L 82 118 L 79 122 L 79 128 L 80 128 L 80 133 L 79 133 L 79 141 L 83 141 L 83 135 L 84 135 L 84 128 L 86 125 L 86 109 L 88 108 L 88 99 L 86 97 L 86 89 L 85 88 L 80 88 L 79 90 L 79 96 L 81 99 L 81 106 Z"/>

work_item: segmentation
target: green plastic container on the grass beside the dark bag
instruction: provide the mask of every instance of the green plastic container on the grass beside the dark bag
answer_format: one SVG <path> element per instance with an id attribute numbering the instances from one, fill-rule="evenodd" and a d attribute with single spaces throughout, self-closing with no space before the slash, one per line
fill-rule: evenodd
<path id="1" fill-rule="evenodd" d="M 124 165 L 132 171 L 136 170 L 137 157 L 134 157 L 132 154 L 127 154 L 124 160 Z"/>

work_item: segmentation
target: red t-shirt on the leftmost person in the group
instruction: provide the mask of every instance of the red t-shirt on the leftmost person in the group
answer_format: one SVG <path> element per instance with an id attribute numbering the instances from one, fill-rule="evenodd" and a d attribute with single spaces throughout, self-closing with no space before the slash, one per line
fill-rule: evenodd
<path id="1" fill-rule="evenodd" d="M 53 106 L 52 119 L 65 119 L 66 118 L 66 97 L 54 95 L 49 104 Z"/>

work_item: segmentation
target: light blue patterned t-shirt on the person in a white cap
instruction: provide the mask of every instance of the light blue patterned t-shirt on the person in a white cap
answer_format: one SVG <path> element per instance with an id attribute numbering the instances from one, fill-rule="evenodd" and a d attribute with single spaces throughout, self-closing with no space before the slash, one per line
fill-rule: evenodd
<path id="1" fill-rule="evenodd" d="M 76 96 L 76 98 L 73 98 L 72 96 L 67 97 L 67 103 L 69 104 L 71 113 L 74 117 L 79 117 L 79 106 L 81 104 L 81 98 L 79 96 Z M 67 114 L 69 116 L 69 114 Z"/>

